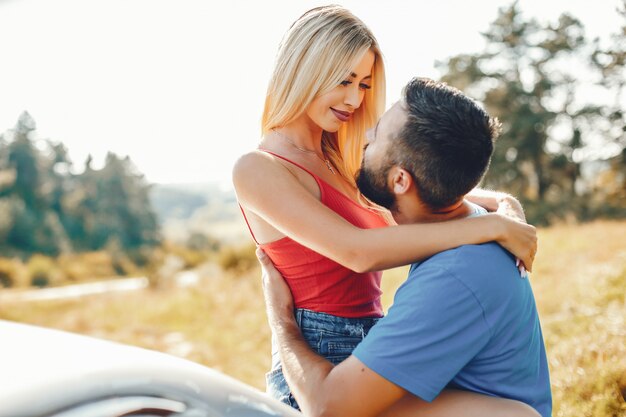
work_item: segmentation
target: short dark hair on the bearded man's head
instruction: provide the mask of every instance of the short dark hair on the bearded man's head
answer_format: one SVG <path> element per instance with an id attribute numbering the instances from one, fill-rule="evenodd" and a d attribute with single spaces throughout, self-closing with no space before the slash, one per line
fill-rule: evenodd
<path id="1" fill-rule="evenodd" d="M 393 163 L 411 173 L 431 209 L 448 207 L 482 179 L 500 124 L 461 91 L 427 78 L 413 78 L 403 96 L 408 118 Z"/>

